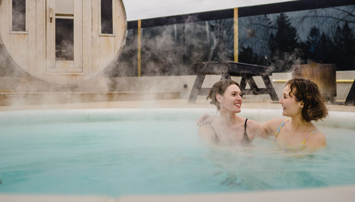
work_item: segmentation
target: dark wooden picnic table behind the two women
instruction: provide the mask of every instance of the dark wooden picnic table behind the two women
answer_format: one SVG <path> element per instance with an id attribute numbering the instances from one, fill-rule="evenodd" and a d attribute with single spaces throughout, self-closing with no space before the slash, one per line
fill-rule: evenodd
<path id="1" fill-rule="evenodd" d="M 193 65 L 196 68 L 197 76 L 190 93 L 189 103 L 195 103 L 198 95 L 208 94 L 211 88 L 201 88 L 207 74 L 221 75 L 221 80 L 231 79 L 231 76 L 241 76 L 242 80 L 239 85 L 242 94 L 269 94 L 271 100 L 279 100 L 269 78 L 272 75 L 270 67 L 232 61 L 197 62 Z M 252 76 L 261 76 L 266 88 L 258 88 Z M 247 83 L 250 89 L 245 89 Z"/>

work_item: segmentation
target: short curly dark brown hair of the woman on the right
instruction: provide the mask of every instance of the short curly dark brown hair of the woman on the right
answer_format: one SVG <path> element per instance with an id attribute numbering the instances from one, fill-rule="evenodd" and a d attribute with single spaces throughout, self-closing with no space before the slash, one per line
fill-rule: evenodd
<path id="1" fill-rule="evenodd" d="M 303 102 L 301 115 L 304 121 L 318 121 L 327 117 L 328 109 L 324 104 L 324 98 L 320 94 L 317 84 L 309 79 L 295 77 L 287 81 L 291 92 L 298 102 Z M 291 96 L 292 97 L 292 96 Z"/>

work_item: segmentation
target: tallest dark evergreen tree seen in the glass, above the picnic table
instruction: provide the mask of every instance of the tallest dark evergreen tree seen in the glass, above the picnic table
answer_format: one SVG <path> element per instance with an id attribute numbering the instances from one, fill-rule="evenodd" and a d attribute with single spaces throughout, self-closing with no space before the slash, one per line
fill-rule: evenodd
<path id="1" fill-rule="evenodd" d="M 299 55 L 295 51 L 299 48 L 298 36 L 296 28 L 291 26 L 290 19 L 284 13 L 277 17 L 276 27 L 276 34 L 271 33 L 269 37 L 269 58 L 277 71 L 284 72 L 291 69 L 293 59 Z"/>

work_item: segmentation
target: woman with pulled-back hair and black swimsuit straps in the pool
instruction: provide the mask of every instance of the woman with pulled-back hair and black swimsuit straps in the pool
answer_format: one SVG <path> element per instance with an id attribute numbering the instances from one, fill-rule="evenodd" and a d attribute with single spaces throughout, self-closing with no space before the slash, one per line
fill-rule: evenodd
<path id="1" fill-rule="evenodd" d="M 200 121 L 198 134 L 209 144 L 248 145 L 256 135 L 266 136 L 265 130 L 255 121 L 236 115 L 241 111 L 242 92 L 233 80 L 220 80 L 210 90 L 207 99 L 215 105 L 218 116 Z"/>

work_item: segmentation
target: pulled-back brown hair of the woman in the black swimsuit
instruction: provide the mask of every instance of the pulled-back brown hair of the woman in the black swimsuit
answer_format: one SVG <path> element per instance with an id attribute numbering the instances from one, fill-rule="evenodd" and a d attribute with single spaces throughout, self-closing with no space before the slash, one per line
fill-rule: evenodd
<path id="1" fill-rule="evenodd" d="M 210 92 L 207 95 L 206 100 L 210 98 L 212 100 L 211 105 L 215 105 L 217 107 L 217 111 L 219 110 L 219 102 L 216 99 L 216 95 L 223 95 L 226 89 L 232 84 L 235 84 L 240 88 L 239 84 L 236 81 L 230 79 L 220 80 L 213 84 Z"/>

